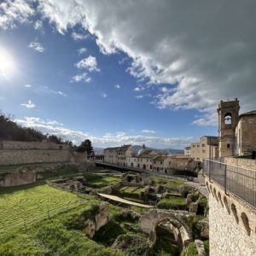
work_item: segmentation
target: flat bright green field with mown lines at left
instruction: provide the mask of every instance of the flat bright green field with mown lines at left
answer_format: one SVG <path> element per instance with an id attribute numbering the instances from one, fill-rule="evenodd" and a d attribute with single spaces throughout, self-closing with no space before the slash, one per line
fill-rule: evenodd
<path id="1" fill-rule="evenodd" d="M 78 206 L 78 195 L 46 184 L 4 189 L 0 194 L 0 234 Z"/>

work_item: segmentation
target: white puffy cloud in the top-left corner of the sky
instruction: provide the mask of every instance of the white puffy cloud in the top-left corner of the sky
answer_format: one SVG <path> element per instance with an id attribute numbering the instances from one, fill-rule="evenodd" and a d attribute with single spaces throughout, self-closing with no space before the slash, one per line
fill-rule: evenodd
<path id="1" fill-rule="evenodd" d="M 0 3 L 0 28 L 3 30 L 15 28 L 16 23 L 26 23 L 34 10 L 31 7 L 32 1 L 27 0 L 6 0 Z"/>

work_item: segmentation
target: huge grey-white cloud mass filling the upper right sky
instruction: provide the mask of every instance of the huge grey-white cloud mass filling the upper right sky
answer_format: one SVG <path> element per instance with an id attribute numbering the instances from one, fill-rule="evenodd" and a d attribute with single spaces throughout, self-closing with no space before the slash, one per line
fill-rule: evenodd
<path id="1" fill-rule="evenodd" d="M 124 51 L 131 59 L 127 72 L 139 81 L 172 84 L 175 90 L 154 99 L 158 108 L 197 109 L 195 124 L 209 124 L 224 96 L 239 96 L 242 111 L 256 108 L 255 5 L 51 0 L 40 8 L 59 32 L 81 24 L 96 36 L 102 53 Z"/>

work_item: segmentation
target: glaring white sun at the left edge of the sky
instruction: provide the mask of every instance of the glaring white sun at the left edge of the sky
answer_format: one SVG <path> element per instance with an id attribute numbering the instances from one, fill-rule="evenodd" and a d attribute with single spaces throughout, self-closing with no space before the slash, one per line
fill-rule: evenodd
<path id="1" fill-rule="evenodd" d="M 9 52 L 0 47 L 0 77 L 10 79 L 15 73 L 15 60 Z"/>

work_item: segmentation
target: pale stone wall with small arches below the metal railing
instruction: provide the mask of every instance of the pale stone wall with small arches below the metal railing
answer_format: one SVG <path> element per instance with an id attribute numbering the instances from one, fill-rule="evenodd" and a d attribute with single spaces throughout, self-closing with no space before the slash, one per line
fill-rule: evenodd
<path id="1" fill-rule="evenodd" d="M 211 256 L 256 255 L 256 211 L 216 183 L 209 190 L 209 239 Z"/>

